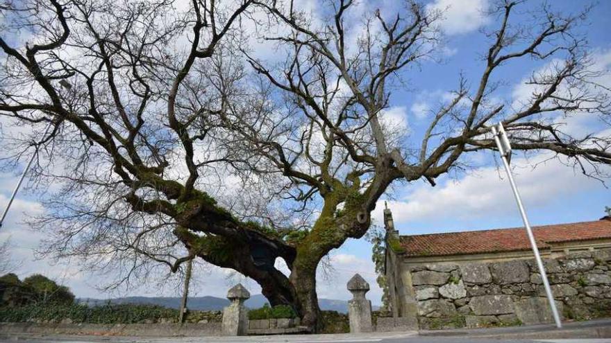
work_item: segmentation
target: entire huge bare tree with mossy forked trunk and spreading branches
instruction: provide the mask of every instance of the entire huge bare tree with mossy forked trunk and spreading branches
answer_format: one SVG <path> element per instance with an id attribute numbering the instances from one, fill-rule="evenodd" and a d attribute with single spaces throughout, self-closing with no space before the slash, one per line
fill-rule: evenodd
<path id="1" fill-rule="evenodd" d="M 511 24 L 519 4 L 492 13 L 475 89 L 461 78 L 424 138 L 410 141 L 384 111 L 410 66 L 439 49 L 442 13 L 420 3 L 374 12 L 362 26 L 345 25 L 354 3 L 342 0 L 324 3 L 332 15 L 321 24 L 276 1 L 8 3 L 0 116 L 34 128 L 3 139 L 3 161 L 40 145 L 35 182 L 60 187 L 49 188 L 49 216 L 34 225 L 47 229 L 55 256 L 122 271 L 117 282 L 146 280 L 158 265 L 176 272 L 198 256 L 251 277 L 315 330 L 321 258 L 367 232 L 394 182 L 434 186 L 465 166 L 465 153 L 494 150 L 490 123 L 503 121 L 516 150 L 551 151 L 593 176 L 611 164 L 609 137 L 571 137 L 546 115 L 609 115 L 609 89 L 594 87 L 574 33 L 583 14 L 544 7 L 526 28 Z M 242 49 L 239 24 L 253 8 L 287 28 L 267 37 L 284 64 Z M 8 37 L 19 30 L 35 34 L 14 47 Z M 533 74 L 532 97 L 514 108 L 494 101 L 491 80 L 520 58 L 562 62 Z M 49 121 L 53 130 L 32 143 Z M 231 200 L 218 191 L 228 177 L 238 185 Z M 274 267 L 278 257 L 290 275 Z"/>

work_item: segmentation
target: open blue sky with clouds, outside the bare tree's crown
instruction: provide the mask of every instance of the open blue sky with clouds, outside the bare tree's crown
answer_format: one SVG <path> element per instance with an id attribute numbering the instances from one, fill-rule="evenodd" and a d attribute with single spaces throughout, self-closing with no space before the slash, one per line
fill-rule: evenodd
<path id="1" fill-rule="evenodd" d="M 315 1 L 309 1 L 310 5 Z M 381 2 L 383 10 L 392 10 L 392 1 Z M 460 3 L 460 6 L 457 4 Z M 537 6 L 534 1 L 528 6 Z M 587 4 L 585 1 L 556 0 L 553 8 L 562 12 L 576 12 Z M 447 8 L 442 28 L 446 33 L 446 53 L 443 63 L 426 62 L 419 69 L 410 72 L 410 91 L 398 89 L 394 92 L 389 111 L 403 121 L 410 130 L 410 138 L 417 139 L 428 124 L 427 109 L 435 108 L 440 98 L 458 85 L 459 73 L 464 73 L 471 85 L 478 82 L 483 69 L 480 54 L 487 49 L 485 37 L 478 32 L 481 28 L 494 27 L 495 19 L 486 17 L 480 9 L 488 6 L 487 0 L 432 1 L 431 6 Z M 363 5 L 365 6 L 365 5 Z M 371 5 L 373 6 L 373 5 Z M 384 6 L 387 6 L 386 8 Z M 524 9 L 526 9 L 524 8 Z M 365 8 L 367 10 L 367 8 Z M 608 18 L 611 17 L 611 1 L 601 1 L 589 13 L 587 25 L 581 29 L 587 37 L 591 53 L 599 66 L 611 67 L 611 38 L 608 35 Z M 526 18 L 526 17 L 524 17 Z M 495 74 L 496 80 L 503 81 L 497 96 L 512 100 L 519 93 L 521 82 L 528 75 L 543 67 L 542 62 L 524 59 L 505 65 Z M 605 79 L 610 81 L 609 78 Z M 567 119 L 567 125 L 578 132 L 601 132 L 609 130 L 595 118 Z M 542 162 L 546 155 L 533 154 L 529 159 L 516 156 L 514 166 L 517 184 L 533 225 L 560 222 L 598 220 L 605 206 L 611 206 L 611 191 L 601 182 L 589 179 L 578 170 L 562 165 L 556 160 Z M 395 224 L 401 234 L 430 234 L 435 232 L 463 231 L 519 227 L 521 218 L 517 212 L 510 186 L 504 171 L 496 168 L 492 152 L 477 153 L 472 157 L 476 168 L 468 173 L 446 175 L 437 180 L 435 188 L 423 182 L 396 184 L 379 205 L 387 200 L 393 211 Z M 17 174 L 18 170 L 15 170 Z M 0 209 L 6 204 L 15 175 L 0 174 Z M 106 276 L 89 274 L 78 270 L 74 261 L 53 265 L 46 259 L 35 260 L 33 249 L 40 240 L 40 233 L 29 231 L 21 224 L 24 216 L 42 211 L 36 198 L 21 193 L 8 221 L 0 231 L 0 242 L 11 237 L 13 252 L 20 262 L 16 272 L 20 276 L 40 272 L 69 285 L 78 297 L 112 297 L 125 294 L 177 295 L 172 287 L 136 288 L 127 293 L 107 294 L 95 289 Z M 381 219 L 382 206 L 374 212 L 377 222 Z M 371 246 L 364 239 L 349 240 L 343 247 L 331 254 L 330 261 L 335 269 L 319 279 L 319 297 L 348 299 L 346 281 L 354 272 L 360 272 L 372 285 L 370 299 L 379 303 L 380 290 L 375 285 L 375 274 L 370 261 Z M 237 278 L 217 267 L 199 266 L 200 273 L 192 294 L 210 294 L 223 297 L 231 283 Z M 259 292 L 251 281 L 244 281 L 251 292 Z"/>

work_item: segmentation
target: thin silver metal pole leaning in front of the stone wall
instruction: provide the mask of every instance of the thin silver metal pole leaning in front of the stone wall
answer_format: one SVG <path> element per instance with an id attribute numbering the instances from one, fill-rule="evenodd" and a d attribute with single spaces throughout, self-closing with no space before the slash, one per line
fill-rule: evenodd
<path id="1" fill-rule="evenodd" d="M 524 221 L 524 227 L 526 227 L 526 233 L 528 234 L 528 240 L 530 240 L 530 246 L 533 247 L 533 252 L 535 253 L 535 261 L 537 261 L 537 267 L 539 267 L 539 274 L 541 274 L 541 279 L 543 281 L 543 286 L 545 288 L 545 293 L 547 294 L 547 300 L 549 301 L 549 307 L 551 308 L 551 313 L 554 317 L 556 327 L 562 328 L 562 322 L 560 322 L 560 315 L 558 315 L 558 309 L 556 308 L 553 294 L 551 292 L 551 288 L 549 287 L 549 281 L 547 280 L 547 274 L 545 272 L 545 268 L 543 267 L 543 261 L 541 259 L 541 255 L 539 255 L 539 249 L 537 248 L 537 242 L 535 241 L 535 236 L 533 235 L 533 229 L 530 228 L 530 222 L 528 222 L 528 217 L 526 217 L 526 211 L 524 210 L 524 206 L 522 205 L 520 193 L 514 182 L 513 175 L 511 173 L 511 168 L 507 161 L 507 156 L 506 156 L 507 154 L 505 154 L 503 146 L 501 146 L 501 141 L 499 140 L 499 134 L 496 131 L 496 127 L 494 126 L 492 127 L 492 134 L 494 134 L 494 141 L 496 142 L 496 146 L 499 148 L 499 151 L 501 151 L 501 159 L 503 160 L 503 165 L 505 166 L 505 171 L 507 172 L 507 177 L 511 184 L 513 195 L 515 196 L 516 202 L 518 203 L 518 209 L 520 210 L 520 215 L 522 216 L 522 220 Z"/>

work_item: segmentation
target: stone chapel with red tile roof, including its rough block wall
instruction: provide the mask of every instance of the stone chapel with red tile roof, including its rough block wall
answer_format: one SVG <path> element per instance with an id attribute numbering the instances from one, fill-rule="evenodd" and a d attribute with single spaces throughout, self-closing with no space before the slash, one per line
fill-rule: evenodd
<path id="1" fill-rule="evenodd" d="M 523 227 L 401 236 L 384 210 L 393 317 L 412 327 L 553 322 Z M 611 217 L 533 227 L 563 320 L 611 317 Z"/>

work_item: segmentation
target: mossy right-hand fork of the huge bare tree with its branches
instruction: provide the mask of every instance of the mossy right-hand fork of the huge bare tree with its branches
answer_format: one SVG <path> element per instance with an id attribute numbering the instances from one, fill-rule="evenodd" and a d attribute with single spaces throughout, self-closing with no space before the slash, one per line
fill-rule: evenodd
<path id="1" fill-rule="evenodd" d="M 332 15 L 322 24 L 292 6 L 257 3 L 290 27 L 267 37 L 288 57 L 279 66 L 266 65 L 246 51 L 247 62 L 263 80 L 245 106 L 228 102 L 224 121 L 238 134 L 234 150 L 242 150 L 246 160 L 258 157 L 244 171 L 281 173 L 290 180 L 285 197 L 319 208 L 289 264 L 306 325 L 317 321 L 320 259 L 367 232 L 371 211 L 393 182 L 424 179 L 435 186 L 440 175 L 468 167 L 465 153 L 494 150 L 492 123 L 507 127 L 515 150 L 549 150 L 592 177 L 608 176 L 600 166 L 611 164 L 611 138 L 596 132 L 574 137 L 558 121 L 575 115 L 608 120 L 610 114 L 609 89 L 596 84 L 601 73 L 590 68 L 585 40 L 575 33 L 589 9 L 564 17 L 544 6 L 526 26 L 511 23 L 519 1 L 496 3 L 490 15 L 498 24 L 485 33 L 490 45 L 476 87 L 461 77 L 453 98 L 415 141 L 402 137 L 384 112 L 392 90 L 405 85 L 410 66 L 435 62 L 442 12 L 408 1 L 403 12 L 383 16 L 378 10 L 358 26 L 344 23 L 354 1 L 327 2 Z M 528 82 L 533 93 L 525 103 L 497 100 L 494 73 L 521 58 L 550 64 L 533 73 Z"/>

